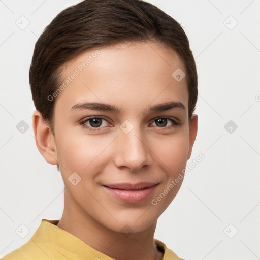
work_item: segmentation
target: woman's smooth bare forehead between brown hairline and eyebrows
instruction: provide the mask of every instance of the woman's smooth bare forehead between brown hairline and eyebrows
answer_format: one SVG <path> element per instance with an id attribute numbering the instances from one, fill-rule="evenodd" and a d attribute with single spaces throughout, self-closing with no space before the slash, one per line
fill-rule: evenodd
<path id="1" fill-rule="evenodd" d="M 69 112 L 79 101 L 96 101 L 140 111 L 153 101 L 187 103 L 186 77 L 174 78 L 178 70 L 185 72 L 182 60 L 163 44 L 125 42 L 93 48 L 63 66 L 55 107 Z"/>

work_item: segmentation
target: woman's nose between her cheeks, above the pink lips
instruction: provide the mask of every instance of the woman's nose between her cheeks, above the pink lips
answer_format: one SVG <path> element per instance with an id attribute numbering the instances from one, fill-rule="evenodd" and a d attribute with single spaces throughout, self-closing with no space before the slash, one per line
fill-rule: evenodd
<path id="1" fill-rule="evenodd" d="M 115 165 L 118 168 L 128 168 L 133 172 L 152 163 L 152 154 L 145 135 L 135 126 L 131 132 L 119 131 L 116 139 Z"/>

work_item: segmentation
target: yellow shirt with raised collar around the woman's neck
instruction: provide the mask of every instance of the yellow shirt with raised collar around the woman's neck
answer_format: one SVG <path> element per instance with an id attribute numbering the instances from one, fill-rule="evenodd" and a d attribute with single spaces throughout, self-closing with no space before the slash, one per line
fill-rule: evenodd
<path id="1" fill-rule="evenodd" d="M 43 218 L 30 240 L 2 260 L 113 260 L 71 233 L 60 229 L 56 226 L 58 221 Z M 181 260 L 163 242 L 157 239 L 154 239 L 154 242 L 160 251 L 164 251 L 163 260 Z"/>

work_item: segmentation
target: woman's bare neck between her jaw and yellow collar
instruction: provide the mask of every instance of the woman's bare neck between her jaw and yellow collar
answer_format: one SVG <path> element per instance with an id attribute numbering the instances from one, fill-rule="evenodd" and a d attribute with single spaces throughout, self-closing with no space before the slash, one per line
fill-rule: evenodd
<path id="1" fill-rule="evenodd" d="M 66 188 L 64 210 L 57 226 L 114 259 L 161 260 L 163 258 L 163 253 L 157 250 L 153 240 L 156 222 L 147 230 L 138 233 L 115 232 L 84 212 Z"/>

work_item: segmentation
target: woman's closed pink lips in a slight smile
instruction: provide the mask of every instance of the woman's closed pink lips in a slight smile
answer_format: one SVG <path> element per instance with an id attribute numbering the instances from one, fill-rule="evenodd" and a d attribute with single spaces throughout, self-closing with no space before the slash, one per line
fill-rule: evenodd
<path id="1" fill-rule="evenodd" d="M 151 196 L 158 183 L 118 183 L 103 185 L 117 199 L 128 203 L 139 203 Z"/>

